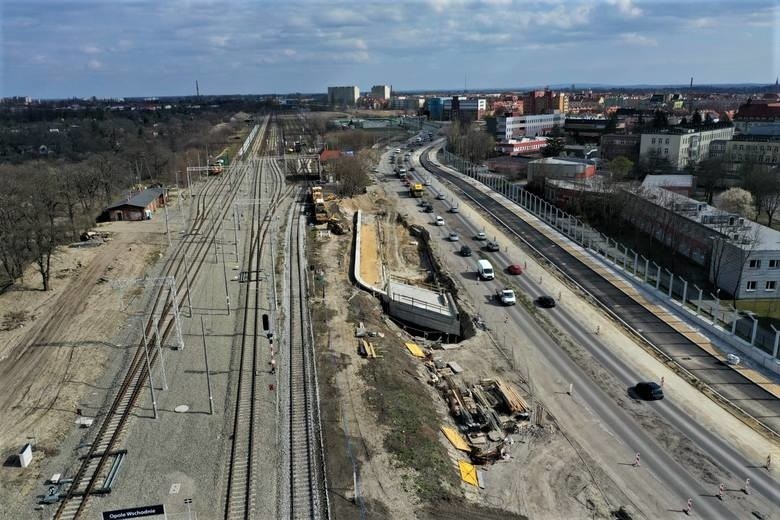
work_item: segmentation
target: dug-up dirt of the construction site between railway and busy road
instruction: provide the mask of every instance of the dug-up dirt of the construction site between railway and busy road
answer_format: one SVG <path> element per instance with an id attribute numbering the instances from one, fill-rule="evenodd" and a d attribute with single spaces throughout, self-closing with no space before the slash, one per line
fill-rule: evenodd
<path id="1" fill-rule="evenodd" d="M 349 216 L 357 208 L 364 210 L 361 233 L 369 228 L 380 237 L 379 259 L 390 276 L 424 278 L 427 266 L 422 263 L 417 243 L 397 222 L 397 212 L 381 188 L 373 190 L 343 203 L 342 211 Z M 427 384 L 422 362 L 403 348 L 403 341 L 410 338 L 383 316 L 378 300 L 349 283 L 350 247 L 348 236 L 331 236 L 318 243 L 316 252 L 318 257 L 340 260 L 339 268 L 326 269 L 327 308 L 319 316 L 315 314 L 315 319 L 327 320 L 327 324 L 318 326 L 317 340 L 328 476 L 336 490 L 332 503 L 336 518 L 359 518 L 361 509 L 368 518 L 388 519 L 443 519 L 453 515 L 608 518 L 615 504 L 628 502 L 615 483 L 558 428 L 549 412 L 542 425 L 528 424 L 513 436 L 516 442 L 509 461 L 483 467 L 485 489 L 461 483 L 457 460 L 464 457 L 439 433 L 439 426 L 453 424 L 446 404 Z M 371 339 L 379 351 L 378 359 L 358 355 L 354 336 L 359 321 L 369 330 L 382 333 L 382 337 Z M 506 359 L 484 333 L 462 342 L 460 348 L 436 351 L 435 355 L 468 367 L 457 376 L 464 381 L 500 375 L 528 397 L 525 382 L 507 370 Z M 377 399 L 384 404 L 378 405 Z M 419 418 L 421 424 L 399 424 L 399 429 L 414 430 L 413 435 L 406 436 L 411 432 L 393 428 L 395 419 L 386 417 L 392 417 L 393 405 L 388 400 L 393 399 L 414 402 L 416 408 L 429 407 Z M 403 444 L 427 441 L 433 444 L 426 450 L 426 457 L 432 457 L 426 465 L 435 471 L 422 474 L 403 460 L 409 456 Z M 353 467 L 360 476 L 357 503 L 352 500 Z M 428 480 L 438 480 L 439 486 L 420 485 Z"/>

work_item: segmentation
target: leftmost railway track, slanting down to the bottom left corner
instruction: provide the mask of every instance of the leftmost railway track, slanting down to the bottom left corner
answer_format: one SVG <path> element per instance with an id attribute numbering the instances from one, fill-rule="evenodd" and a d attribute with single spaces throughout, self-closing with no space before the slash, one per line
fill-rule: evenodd
<path id="1" fill-rule="evenodd" d="M 252 145 L 250 156 L 257 153 L 264 145 L 264 133 L 268 125 L 268 118 L 263 123 L 262 131 L 258 133 L 255 143 Z M 224 204 L 219 211 L 217 218 L 207 224 L 205 216 L 213 212 L 220 199 L 234 199 L 238 193 L 240 180 L 249 171 L 249 166 L 239 163 L 231 173 L 233 177 L 238 178 L 238 182 L 230 182 L 228 175 L 215 177 L 214 180 L 207 181 L 201 189 L 197 208 L 194 215 L 193 224 L 188 232 L 189 235 L 202 235 L 205 240 L 198 242 L 185 241 L 180 242 L 176 251 L 169 258 L 163 267 L 162 277 L 180 277 L 183 270 L 187 270 L 187 275 L 194 278 L 205 261 L 206 254 L 210 245 L 214 243 L 215 237 L 219 232 L 224 217 L 229 211 L 230 204 Z M 204 229 L 205 226 L 205 229 Z M 192 257 L 194 262 L 187 263 L 184 258 Z M 181 293 L 181 295 L 180 295 Z M 157 332 L 154 328 L 153 316 L 160 315 L 160 341 L 164 342 L 169 336 L 172 328 L 175 326 L 172 319 L 172 306 L 181 305 L 184 296 L 184 288 L 179 286 L 176 290 L 160 285 L 153 298 L 152 310 L 144 323 L 144 331 L 147 344 L 153 344 Z M 89 499 L 92 494 L 107 493 L 110 491 L 110 481 L 113 480 L 118 461 L 121 459 L 117 455 L 122 455 L 121 450 L 117 450 L 124 432 L 124 426 L 127 423 L 130 412 L 138 399 L 144 384 L 149 375 L 149 370 L 157 360 L 157 353 L 150 349 L 149 358 L 144 356 L 144 340 L 140 341 L 135 350 L 133 359 L 130 362 L 128 371 L 120 384 L 119 391 L 112 401 L 100 428 L 90 445 L 87 454 L 83 457 L 79 465 L 73 482 L 64 493 L 59 506 L 54 513 L 56 520 L 71 520 L 83 517 L 89 505 Z M 114 460 L 112 467 L 107 468 L 109 459 Z M 102 485 L 100 483 L 102 482 Z"/>

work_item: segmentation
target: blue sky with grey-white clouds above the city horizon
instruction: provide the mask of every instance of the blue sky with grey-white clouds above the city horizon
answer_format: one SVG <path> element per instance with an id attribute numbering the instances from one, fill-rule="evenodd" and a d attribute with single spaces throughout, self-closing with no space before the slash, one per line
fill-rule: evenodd
<path id="1" fill-rule="evenodd" d="M 773 83 L 780 0 L 0 0 L 0 97 Z"/>

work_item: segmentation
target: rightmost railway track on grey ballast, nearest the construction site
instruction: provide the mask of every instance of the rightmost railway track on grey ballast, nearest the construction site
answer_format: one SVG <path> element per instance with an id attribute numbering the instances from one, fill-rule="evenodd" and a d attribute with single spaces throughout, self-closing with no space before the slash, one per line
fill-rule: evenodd
<path id="1" fill-rule="evenodd" d="M 296 195 L 301 198 L 302 191 Z M 288 426 L 279 518 L 327 519 L 324 453 L 319 419 L 313 335 L 308 312 L 308 290 L 303 206 L 296 200 L 288 225 L 287 289 L 289 297 L 286 338 Z"/>

